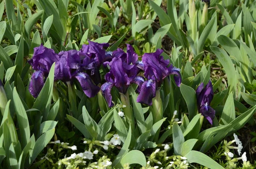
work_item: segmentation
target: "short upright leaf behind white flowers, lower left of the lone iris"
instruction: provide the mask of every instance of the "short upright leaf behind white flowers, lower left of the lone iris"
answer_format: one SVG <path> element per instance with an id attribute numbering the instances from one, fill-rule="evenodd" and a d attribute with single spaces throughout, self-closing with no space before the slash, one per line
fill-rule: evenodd
<path id="1" fill-rule="evenodd" d="M 181 147 L 184 143 L 184 137 L 182 130 L 177 123 L 173 123 L 172 126 L 172 139 L 175 155 L 181 155 Z"/>

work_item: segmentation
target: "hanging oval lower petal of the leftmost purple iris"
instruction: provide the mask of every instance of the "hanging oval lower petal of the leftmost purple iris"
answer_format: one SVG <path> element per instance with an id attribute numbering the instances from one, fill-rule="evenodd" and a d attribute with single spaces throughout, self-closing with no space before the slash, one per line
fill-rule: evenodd
<path id="1" fill-rule="evenodd" d="M 29 92 L 33 97 L 38 97 L 42 88 L 44 87 L 44 72 L 35 71 L 31 76 L 31 81 L 29 83 Z"/>

